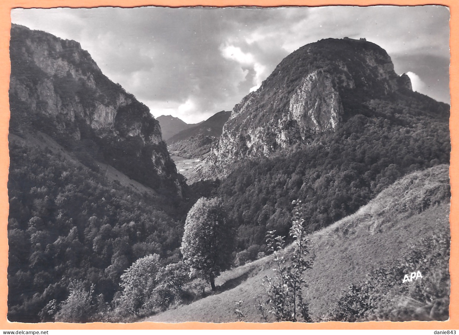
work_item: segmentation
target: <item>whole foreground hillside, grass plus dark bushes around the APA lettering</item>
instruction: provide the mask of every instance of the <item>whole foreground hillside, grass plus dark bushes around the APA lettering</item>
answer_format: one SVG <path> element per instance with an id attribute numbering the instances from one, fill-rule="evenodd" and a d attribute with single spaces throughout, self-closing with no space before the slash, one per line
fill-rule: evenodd
<path id="1" fill-rule="evenodd" d="M 438 165 L 404 176 L 355 214 L 312 233 L 313 265 L 303 279 L 313 321 L 448 319 L 449 198 L 448 165 Z M 231 269 L 217 278 L 217 294 L 147 320 L 235 322 L 242 301 L 243 321 L 265 322 L 259 303 L 269 307 L 263 283 L 276 266 L 271 255 Z M 413 271 L 422 279 L 403 282 Z"/>

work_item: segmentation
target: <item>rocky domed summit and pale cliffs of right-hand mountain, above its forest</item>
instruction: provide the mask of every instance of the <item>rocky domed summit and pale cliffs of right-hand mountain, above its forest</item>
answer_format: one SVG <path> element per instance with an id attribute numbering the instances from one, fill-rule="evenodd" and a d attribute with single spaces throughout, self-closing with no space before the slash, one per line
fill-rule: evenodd
<path id="1" fill-rule="evenodd" d="M 406 89 L 409 77 L 399 77 L 386 51 L 365 39 L 305 45 L 235 105 L 206 170 L 226 174 L 238 160 L 334 131 L 356 105 Z"/>

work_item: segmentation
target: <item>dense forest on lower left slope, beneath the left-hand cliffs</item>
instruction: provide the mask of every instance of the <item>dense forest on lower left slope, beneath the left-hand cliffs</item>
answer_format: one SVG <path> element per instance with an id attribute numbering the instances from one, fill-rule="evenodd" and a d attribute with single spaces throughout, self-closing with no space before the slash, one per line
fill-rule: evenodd
<path id="1" fill-rule="evenodd" d="M 11 321 L 53 320 L 58 309 L 48 303 L 65 301 L 75 280 L 88 291 L 94 284 L 104 307 L 137 259 L 157 254 L 160 264 L 179 260 L 180 213 L 161 198 L 104 181 L 103 173 L 66 158 L 63 150 L 13 139 L 10 155 Z"/>

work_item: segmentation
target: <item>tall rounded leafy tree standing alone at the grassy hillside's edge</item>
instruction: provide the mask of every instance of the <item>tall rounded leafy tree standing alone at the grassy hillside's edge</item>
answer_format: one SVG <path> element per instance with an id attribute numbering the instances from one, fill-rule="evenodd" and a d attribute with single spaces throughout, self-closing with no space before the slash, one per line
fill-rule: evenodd
<path id="1" fill-rule="evenodd" d="M 231 264 L 235 231 L 221 199 L 200 198 L 188 212 L 180 250 L 191 272 L 210 282 Z"/>

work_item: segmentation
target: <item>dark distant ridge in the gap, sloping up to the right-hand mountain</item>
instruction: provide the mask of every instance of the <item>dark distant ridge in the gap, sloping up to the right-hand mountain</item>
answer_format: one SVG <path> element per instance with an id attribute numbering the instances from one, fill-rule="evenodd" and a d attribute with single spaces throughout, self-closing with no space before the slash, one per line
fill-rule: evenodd
<path id="1" fill-rule="evenodd" d="M 220 137 L 222 134 L 223 126 L 225 122 L 228 121 L 229 115 L 231 115 L 231 111 L 222 110 L 209 117 L 206 121 L 199 123 L 197 126 L 185 129 L 173 137 L 170 137 L 167 140 L 167 143 L 171 144 L 174 142 L 179 142 L 185 140 L 186 138 L 200 134 L 210 137 Z"/>

